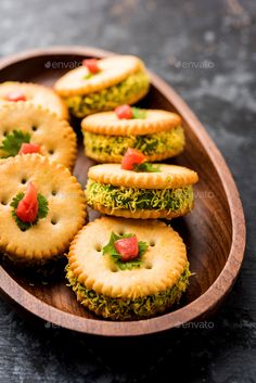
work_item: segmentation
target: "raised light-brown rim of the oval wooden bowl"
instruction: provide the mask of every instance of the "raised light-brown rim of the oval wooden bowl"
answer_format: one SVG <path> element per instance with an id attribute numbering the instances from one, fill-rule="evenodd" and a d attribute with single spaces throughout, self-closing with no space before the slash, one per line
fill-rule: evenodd
<path id="1" fill-rule="evenodd" d="M 91 47 L 79 46 L 36 49 L 1 59 L 0 71 L 23 60 L 51 54 L 78 54 L 101 58 L 115 53 Z M 228 260 L 212 286 L 192 303 L 174 312 L 156 318 L 128 322 L 88 319 L 54 308 L 28 293 L 24 288 L 15 282 L 15 280 L 12 279 L 12 277 L 2 267 L 0 267 L 0 291 L 2 294 L 23 306 L 29 312 L 39 316 L 41 319 L 54 323 L 55 325 L 61 325 L 69 330 L 75 330 L 87 334 L 104 336 L 145 335 L 166 331 L 170 328 L 179 328 L 183 323 L 195 321 L 197 318 L 206 315 L 207 311 L 210 311 L 218 303 L 222 301 L 238 277 L 245 248 L 245 222 L 242 203 L 231 173 L 205 128 L 195 117 L 190 107 L 184 103 L 184 101 L 158 76 L 151 73 L 151 78 L 152 84 L 168 100 L 171 101 L 171 104 L 178 111 L 182 110 L 182 118 L 195 132 L 197 140 L 200 140 L 205 148 L 207 155 L 215 164 L 215 168 L 221 179 L 228 199 L 232 221 L 232 245 Z"/>

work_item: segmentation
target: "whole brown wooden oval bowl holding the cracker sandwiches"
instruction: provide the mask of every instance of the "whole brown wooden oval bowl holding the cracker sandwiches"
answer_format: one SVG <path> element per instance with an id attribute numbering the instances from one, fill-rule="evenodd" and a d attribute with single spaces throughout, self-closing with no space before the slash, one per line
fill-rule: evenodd
<path id="1" fill-rule="evenodd" d="M 4 59 L 0 62 L 0 81 L 34 81 L 51 86 L 67 69 L 87 56 L 111 55 L 90 48 L 52 48 Z M 63 277 L 49 284 L 29 284 L 23 273 L 0 267 L 0 290 L 5 297 L 41 319 L 87 334 L 133 336 L 163 332 L 185 322 L 205 319 L 223 301 L 238 277 L 244 254 L 243 209 L 233 178 L 204 127 L 179 98 L 156 75 L 152 75 L 149 95 L 142 106 L 175 111 L 182 116 L 187 136 L 185 151 L 175 161 L 196 170 L 195 208 L 184 218 L 171 221 L 188 246 L 195 276 L 178 309 L 138 321 L 110 321 L 95 317 L 77 303 Z M 77 125 L 77 122 L 75 122 Z M 79 135 L 78 135 L 79 137 Z M 80 150 L 75 175 L 85 184 L 93 164 Z M 95 214 L 90 210 L 90 219 Z"/>

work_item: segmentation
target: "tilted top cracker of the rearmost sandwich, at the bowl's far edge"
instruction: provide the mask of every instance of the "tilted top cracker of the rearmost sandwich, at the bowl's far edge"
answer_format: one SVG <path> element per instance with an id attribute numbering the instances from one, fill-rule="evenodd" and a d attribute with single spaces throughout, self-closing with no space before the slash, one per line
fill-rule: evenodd
<path id="1" fill-rule="evenodd" d="M 101 72 L 90 78 L 86 78 L 89 71 L 84 65 L 69 71 L 55 82 L 55 90 L 62 97 L 88 94 L 113 87 L 129 75 L 144 69 L 142 61 L 132 55 L 102 59 L 98 66 Z"/>

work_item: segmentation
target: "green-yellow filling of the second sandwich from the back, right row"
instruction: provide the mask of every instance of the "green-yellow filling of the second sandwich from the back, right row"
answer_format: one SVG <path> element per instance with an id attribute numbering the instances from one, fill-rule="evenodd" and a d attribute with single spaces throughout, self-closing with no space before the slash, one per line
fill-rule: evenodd
<path id="1" fill-rule="evenodd" d="M 135 148 L 151 156 L 167 153 L 168 156 L 182 152 L 184 132 L 181 126 L 143 136 L 105 136 L 85 131 L 85 146 L 89 156 L 110 156 L 110 161 L 120 162 L 128 148 Z"/>

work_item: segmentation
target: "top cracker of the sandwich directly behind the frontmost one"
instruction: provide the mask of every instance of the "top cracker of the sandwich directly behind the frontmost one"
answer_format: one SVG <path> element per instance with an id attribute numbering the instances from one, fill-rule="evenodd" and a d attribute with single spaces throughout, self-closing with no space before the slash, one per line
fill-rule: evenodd
<path id="1" fill-rule="evenodd" d="M 114 187 L 142 189 L 182 188 L 197 182 L 195 171 L 183 166 L 159 164 L 159 173 L 124 170 L 119 164 L 103 164 L 90 167 L 88 178 Z"/>

